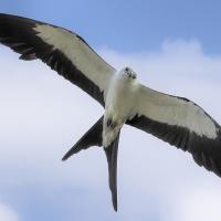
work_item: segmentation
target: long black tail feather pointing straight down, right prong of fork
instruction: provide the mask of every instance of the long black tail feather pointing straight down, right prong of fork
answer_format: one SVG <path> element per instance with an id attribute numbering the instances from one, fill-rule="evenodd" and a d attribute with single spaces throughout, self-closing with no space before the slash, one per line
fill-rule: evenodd
<path id="1" fill-rule="evenodd" d="M 108 164 L 109 189 L 112 191 L 112 202 L 114 210 L 117 211 L 117 152 L 119 134 L 109 147 L 104 148 Z"/>

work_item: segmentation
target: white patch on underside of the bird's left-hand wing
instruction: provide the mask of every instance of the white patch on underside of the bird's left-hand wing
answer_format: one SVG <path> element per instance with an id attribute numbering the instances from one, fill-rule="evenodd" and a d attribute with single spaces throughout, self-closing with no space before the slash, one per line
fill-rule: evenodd
<path id="1" fill-rule="evenodd" d="M 48 24 L 36 24 L 34 31 L 42 41 L 60 50 L 102 92 L 105 91 L 115 70 L 76 34 Z"/>

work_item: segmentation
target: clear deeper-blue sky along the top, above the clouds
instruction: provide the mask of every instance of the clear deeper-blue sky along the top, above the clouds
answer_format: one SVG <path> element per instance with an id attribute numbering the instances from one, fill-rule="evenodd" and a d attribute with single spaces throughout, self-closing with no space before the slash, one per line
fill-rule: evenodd
<path id="1" fill-rule="evenodd" d="M 94 46 L 134 52 L 159 49 L 165 39 L 197 39 L 208 53 L 221 50 L 219 0 L 1 1 L 0 10 L 64 25 Z"/>

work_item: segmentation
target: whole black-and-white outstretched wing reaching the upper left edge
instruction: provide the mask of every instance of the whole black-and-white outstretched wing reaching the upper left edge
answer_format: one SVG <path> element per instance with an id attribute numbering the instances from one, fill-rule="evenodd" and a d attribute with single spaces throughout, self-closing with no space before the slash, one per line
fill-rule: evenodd
<path id="1" fill-rule="evenodd" d="M 40 59 L 104 106 L 104 94 L 115 70 L 77 34 L 40 21 L 0 13 L 0 43 Z"/>

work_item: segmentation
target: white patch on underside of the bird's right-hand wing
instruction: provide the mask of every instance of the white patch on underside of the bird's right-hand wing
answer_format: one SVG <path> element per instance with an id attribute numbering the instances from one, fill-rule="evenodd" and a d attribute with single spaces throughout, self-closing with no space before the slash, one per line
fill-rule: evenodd
<path id="1" fill-rule="evenodd" d="M 172 126 L 186 127 L 199 136 L 214 139 L 217 127 L 204 110 L 182 98 L 172 97 L 140 85 L 138 115 Z"/>

